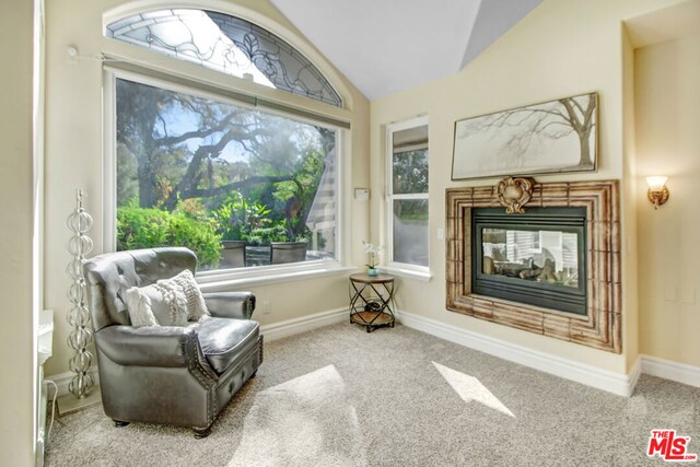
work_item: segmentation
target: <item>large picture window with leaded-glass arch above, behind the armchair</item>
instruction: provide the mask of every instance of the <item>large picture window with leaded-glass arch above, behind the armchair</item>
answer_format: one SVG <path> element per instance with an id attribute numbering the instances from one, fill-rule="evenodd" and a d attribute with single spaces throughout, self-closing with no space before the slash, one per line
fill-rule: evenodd
<path id="1" fill-rule="evenodd" d="M 187 246 L 203 281 L 220 269 L 248 277 L 278 275 L 280 262 L 340 265 L 339 136 L 349 112 L 308 59 L 265 28 L 203 10 L 139 13 L 105 35 L 168 56 L 158 68 L 128 58 L 105 66 L 106 217 L 115 222 L 106 244 Z M 173 58 L 340 109 L 164 71 Z"/>

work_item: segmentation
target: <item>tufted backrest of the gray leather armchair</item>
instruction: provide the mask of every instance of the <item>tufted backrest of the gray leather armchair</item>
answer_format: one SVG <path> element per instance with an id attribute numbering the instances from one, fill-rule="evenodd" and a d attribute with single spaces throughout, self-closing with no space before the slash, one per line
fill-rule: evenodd
<path id="1" fill-rule="evenodd" d="M 197 256 L 187 248 L 132 249 L 95 256 L 83 266 L 88 303 L 95 332 L 112 325 L 131 325 L 124 293 L 170 279 L 185 269 L 195 273 Z"/>

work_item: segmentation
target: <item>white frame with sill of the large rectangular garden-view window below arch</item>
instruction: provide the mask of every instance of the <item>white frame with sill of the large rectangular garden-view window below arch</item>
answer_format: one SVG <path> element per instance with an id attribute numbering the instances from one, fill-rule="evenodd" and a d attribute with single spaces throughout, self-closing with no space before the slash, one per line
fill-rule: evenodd
<path id="1" fill-rule="evenodd" d="M 171 58 L 171 60 L 177 60 Z M 126 68 L 126 67 L 125 67 Z M 287 280 L 306 279 L 308 277 L 316 276 L 329 276 L 338 273 L 347 273 L 350 270 L 354 270 L 353 267 L 348 267 L 347 247 L 346 247 L 346 225 L 348 224 L 345 214 L 347 211 L 346 197 L 343 190 L 346 189 L 346 165 L 347 165 L 347 139 L 350 137 L 350 130 L 347 128 L 349 125 L 337 126 L 331 125 L 328 119 L 323 118 L 319 115 L 318 120 L 314 120 L 310 115 L 314 115 L 312 106 L 311 109 L 300 108 L 299 113 L 294 113 L 295 107 L 285 105 L 281 102 L 279 106 L 266 106 L 266 105 L 250 105 L 249 103 L 232 98 L 238 93 L 238 90 L 234 86 L 220 86 L 208 81 L 202 81 L 199 77 L 187 77 L 185 82 L 192 83 L 192 85 L 182 84 L 182 77 L 177 73 L 173 73 L 173 81 L 167 80 L 163 75 L 167 72 L 150 70 L 147 68 L 136 67 L 139 72 L 129 69 L 124 69 L 118 66 L 105 65 L 103 67 L 103 140 L 104 140 L 104 154 L 103 154 L 103 252 L 116 250 L 116 213 L 117 213 L 117 157 L 116 157 L 116 80 L 125 79 L 135 81 L 138 83 L 152 85 L 161 89 L 166 89 L 174 92 L 182 92 L 203 98 L 213 100 L 224 104 L 231 104 L 245 108 L 260 108 L 268 114 L 291 118 L 298 121 L 322 125 L 327 128 L 332 128 L 337 131 L 337 151 L 336 151 L 336 252 L 334 259 L 320 259 L 303 262 L 293 262 L 285 265 L 270 265 L 258 266 L 250 268 L 236 268 L 236 269 L 214 269 L 209 271 L 198 272 L 196 275 L 197 281 L 201 284 L 201 289 L 205 291 L 219 291 L 229 290 L 232 285 L 254 285 L 265 284 L 271 282 L 280 282 Z M 211 70 L 208 70 L 211 71 Z M 201 82 L 201 86 L 197 85 Z M 221 93 L 217 93 L 217 91 Z M 273 104 L 273 103 L 272 103 Z M 291 109 L 291 112 L 284 112 Z M 347 110 L 346 110 L 347 113 Z M 348 118 L 349 120 L 349 118 Z M 342 121 L 342 120 L 340 120 Z"/>

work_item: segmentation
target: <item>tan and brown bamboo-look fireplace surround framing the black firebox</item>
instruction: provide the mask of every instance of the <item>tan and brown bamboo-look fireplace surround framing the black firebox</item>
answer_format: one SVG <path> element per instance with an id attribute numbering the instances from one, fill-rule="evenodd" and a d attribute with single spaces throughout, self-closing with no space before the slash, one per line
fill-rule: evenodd
<path id="1" fill-rule="evenodd" d="M 494 186 L 446 190 L 447 310 L 504 326 L 620 353 L 620 210 L 617 180 L 535 184 L 524 206 L 584 207 L 587 316 L 471 293 L 471 208 L 499 208 Z"/>

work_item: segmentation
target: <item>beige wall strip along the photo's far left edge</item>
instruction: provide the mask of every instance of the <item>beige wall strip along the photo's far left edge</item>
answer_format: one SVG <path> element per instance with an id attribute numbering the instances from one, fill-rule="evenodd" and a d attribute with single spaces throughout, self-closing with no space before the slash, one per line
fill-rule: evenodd
<path id="1" fill-rule="evenodd" d="M 34 464 L 33 44 L 34 4 L 2 4 L 0 54 L 0 464 Z"/>

